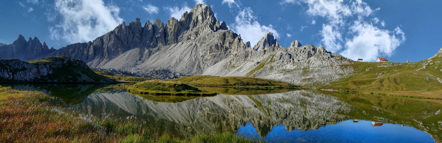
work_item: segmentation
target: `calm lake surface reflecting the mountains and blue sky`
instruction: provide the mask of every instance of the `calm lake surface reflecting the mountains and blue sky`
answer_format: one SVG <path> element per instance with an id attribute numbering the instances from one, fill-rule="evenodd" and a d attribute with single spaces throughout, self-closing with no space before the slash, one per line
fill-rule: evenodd
<path id="1" fill-rule="evenodd" d="M 313 90 L 209 88 L 154 96 L 99 84 L 12 84 L 59 97 L 65 110 L 132 118 L 178 137 L 219 132 L 273 142 L 442 142 L 442 100 Z"/>

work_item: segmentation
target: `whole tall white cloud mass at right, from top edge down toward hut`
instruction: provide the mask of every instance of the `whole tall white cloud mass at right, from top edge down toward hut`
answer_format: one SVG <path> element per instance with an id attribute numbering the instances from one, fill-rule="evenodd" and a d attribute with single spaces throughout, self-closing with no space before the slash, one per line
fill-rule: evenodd
<path id="1" fill-rule="evenodd" d="M 380 29 L 373 24 L 385 22 L 379 18 L 368 18 L 380 8 L 372 9 L 362 0 L 283 0 L 281 4 L 306 4 L 306 13 L 327 20 L 319 35 L 321 44 L 331 52 L 367 61 L 374 61 L 377 56 L 390 56 L 405 41 L 405 34 L 397 27 L 393 31 Z M 351 21 L 351 22 L 349 22 Z M 316 21 L 312 21 L 315 24 Z M 351 37 L 345 38 L 343 37 Z"/>

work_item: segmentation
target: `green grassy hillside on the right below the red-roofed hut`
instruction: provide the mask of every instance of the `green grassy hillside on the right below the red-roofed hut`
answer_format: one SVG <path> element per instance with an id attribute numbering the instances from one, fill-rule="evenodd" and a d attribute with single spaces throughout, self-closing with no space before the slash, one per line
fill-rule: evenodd
<path id="1" fill-rule="evenodd" d="M 420 62 L 355 62 L 356 74 L 317 88 L 401 95 L 442 95 L 442 49 Z"/>

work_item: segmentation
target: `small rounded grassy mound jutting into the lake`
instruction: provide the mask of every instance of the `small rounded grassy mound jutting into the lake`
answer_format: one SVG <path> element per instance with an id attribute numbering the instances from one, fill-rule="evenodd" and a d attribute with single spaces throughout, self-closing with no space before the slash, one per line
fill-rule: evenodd
<path id="1" fill-rule="evenodd" d="M 151 95 L 216 95 L 178 81 L 149 80 L 127 88 L 128 92 Z"/>

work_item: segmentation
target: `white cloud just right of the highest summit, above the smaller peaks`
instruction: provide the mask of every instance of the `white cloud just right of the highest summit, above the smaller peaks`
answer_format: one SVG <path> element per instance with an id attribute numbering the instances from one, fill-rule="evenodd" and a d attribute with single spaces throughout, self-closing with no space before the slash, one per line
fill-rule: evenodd
<path id="1" fill-rule="evenodd" d="M 278 31 L 271 24 L 268 26 L 259 24 L 250 7 L 245 7 L 238 12 L 235 23 L 231 27 L 233 31 L 241 34 L 244 41 L 250 41 L 251 45 L 258 43 L 267 32 L 271 32 L 275 38 L 279 38 Z"/>

